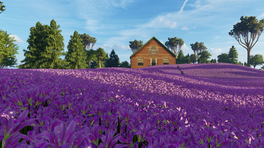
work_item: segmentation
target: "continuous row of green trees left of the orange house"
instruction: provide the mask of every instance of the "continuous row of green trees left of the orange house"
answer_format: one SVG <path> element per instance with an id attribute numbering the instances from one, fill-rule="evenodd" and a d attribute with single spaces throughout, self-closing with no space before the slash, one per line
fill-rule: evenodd
<path id="1" fill-rule="evenodd" d="M 27 39 L 28 50 L 23 50 L 25 59 L 21 61 L 19 69 L 91 69 L 103 67 L 126 67 L 127 61 L 120 63 L 118 56 L 112 50 L 108 54 L 103 48 L 93 49 L 96 38 L 88 34 L 78 34 L 77 31 L 70 36 L 67 52 L 64 52 L 63 36 L 59 25 L 54 20 L 49 25 L 37 22 L 30 28 Z M 65 56 L 65 59 L 61 59 Z"/>

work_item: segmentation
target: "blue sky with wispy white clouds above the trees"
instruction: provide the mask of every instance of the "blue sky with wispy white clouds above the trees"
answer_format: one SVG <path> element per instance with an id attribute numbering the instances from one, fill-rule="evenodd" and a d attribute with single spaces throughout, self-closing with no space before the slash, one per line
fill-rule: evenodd
<path id="1" fill-rule="evenodd" d="M 19 46 L 18 65 L 24 59 L 29 29 L 37 22 L 50 25 L 54 19 L 64 38 L 64 51 L 74 31 L 96 37 L 94 49 L 114 49 L 120 62 L 130 62 L 129 41 L 146 43 L 156 37 L 163 44 L 168 37 L 184 41 L 184 55 L 192 54 L 190 44 L 204 42 L 211 59 L 228 53 L 234 45 L 238 60 L 247 61 L 247 50 L 228 33 L 241 16 L 264 18 L 263 0 L 1 0 L 0 29 L 15 37 Z M 251 55 L 264 55 L 264 34 Z M 261 68 L 258 66 L 256 68 Z"/>

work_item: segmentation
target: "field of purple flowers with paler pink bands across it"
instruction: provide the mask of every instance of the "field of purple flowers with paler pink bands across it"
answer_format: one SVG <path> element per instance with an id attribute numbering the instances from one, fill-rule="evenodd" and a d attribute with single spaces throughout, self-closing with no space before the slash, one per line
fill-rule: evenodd
<path id="1" fill-rule="evenodd" d="M 264 71 L 0 69 L 2 148 L 264 148 Z"/>

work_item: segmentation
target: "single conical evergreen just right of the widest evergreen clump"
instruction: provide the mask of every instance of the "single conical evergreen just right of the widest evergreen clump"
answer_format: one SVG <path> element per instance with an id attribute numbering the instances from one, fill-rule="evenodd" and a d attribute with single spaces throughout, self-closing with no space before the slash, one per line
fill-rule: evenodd
<path id="1" fill-rule="evenodd" d="M 84 69 L 86 64 L 86 52 L 82 42 L 82 38 L 77 31 L 73 36 L 70 36 L 69 44 L 67 46 L 68 52 L 66 53 L 65 60 L 68 62 L 67 69 Z"/>

